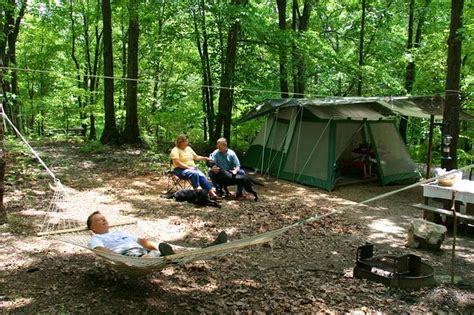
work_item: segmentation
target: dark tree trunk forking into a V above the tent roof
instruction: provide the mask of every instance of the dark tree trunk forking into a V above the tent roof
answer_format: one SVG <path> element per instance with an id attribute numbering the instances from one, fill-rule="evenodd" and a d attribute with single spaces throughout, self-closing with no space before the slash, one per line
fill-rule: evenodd
<path id="1" fill-rule="evenodd" d="M 300 13 L 298 0 L 293 0 L 293 19 L 292 29 L 295 35 L 301 35 L 306 32 L 309 26 L 309 18 L 311 15 L 313 0 L 305 0 L 303 6 L 303 13 Z M 305 54 L 298 49 L 301 44 L 301 36 L 295 36 L 296 43 L 293 42 L 293 93 L 294 97 L 303 98 L 306 92 L 306 62 Z"/>

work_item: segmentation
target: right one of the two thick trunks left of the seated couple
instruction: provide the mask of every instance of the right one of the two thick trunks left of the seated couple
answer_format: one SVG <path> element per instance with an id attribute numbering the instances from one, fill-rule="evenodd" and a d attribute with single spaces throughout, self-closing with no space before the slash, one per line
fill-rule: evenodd
<path id="1" fill-rule="evenodd" d="M 127 116 L 123 133 L 124 142 L 129 144 L 138 144 L 141 142 L 137 112 L 138 38 L 140 36 L 138 6 L 139 2 L 137 0 L 130 0 L 128 7 Z"/>

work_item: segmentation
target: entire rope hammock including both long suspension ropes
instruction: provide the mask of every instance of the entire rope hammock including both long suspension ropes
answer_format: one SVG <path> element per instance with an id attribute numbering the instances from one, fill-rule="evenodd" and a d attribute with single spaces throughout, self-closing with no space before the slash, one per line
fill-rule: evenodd
<path id="1" fill-rule="evenodd" d="M 325 214 L 321 215 L 314 215 L 304 220 L 300 220 L 295 222 L 291 225 L 284 226 L 279 229 L 271 230 L 265 233 L 257 234 L 251 237 L 246 237 L 243 239 L 235 240 L 229 243 L 219 244 L 211 247 L 206 248 L 189 248 L 189 247 L 177 247 L 178 251 L 176 254 L 170 256 L 161 256 L 161 257 L 132 257 L 132 256 L 124 256 L 115 253 L 104 252 L 100 250 L 94 250 L 88 247 L 88 242 L 91 237 L 91 232 L 88 231 L 87 227 L 85 226 L 86 218 L 89 212 L 92 212 L 92 209 L 87 209 L 87 213 L 84 212 L 84 205 L 82 203 L 82 196 L 80 194 L 74 194 L 72 189 L 68 189 L 61 184 L 59 179 L 54 175 L 54 173 L 46 166 L 43 160 L 39 157 L 38 153 L 30 146 L 28 141 L 21 135 L 19 130 L 13 125 L 10 121 L 8 116 L 3 113 L 1 104 L 0 104 L 0 111 L 1 114 L 6 122 L 12 127 L 15 133 L 22 139 L 22 141 L 27 145 L 33 155 L 37 158 L 39 163 L 45 168 L 46 172 L 52 177 L 54 181 L 54 186 L 52 189 L 54 190 L 53 196 L 50 200 L 48 210 L 44 216 L 43 223 L 41 224 L 41 230 L 37 233 L 38 236 L 45 236 L 50 237 L 62 242 L 70 243 L 76 246 L 80 246 L 82 248 L 86 248 L 97 256 L 103 258 L 106 262 L 111 264 L 114 269 L 119 271 L 123 271 L 130 274 L 147 274 L 150 272 L 161 270 L 169 265 L 175 264 L 187 264 L 192 261 L 196 260 L 207 260 L 212 257 L 220 256 L 223 254 L 227 254 L 238 249 L 257 245 L 265 242 L 271 241 L 274 237 L 285 233 L 286 231 L 301 226 L 303 224 L 319 221 L 325 217 L 340 214 L 344 211 L 354 208 L 356 206 L 360 206 L 363 204 L 367 204 L 369 202 L 379 200 L 382 198 L 386 198 L 388 196 L 397 194 L 401 191 L 411 189 L 413 187 L 429 183 L 431 181 L 437 180 L 444 176 L 449 176 L 458 170 L 453 170 L 447 172 L 444 175 L 437 176 L 434 178 L 430 178 L 391 192 L 387 192 L 370 199 L 364 200 L 362 202 L 350 204 L 347 206 L 343 206 L 337 209 L 333 209 Z M 474 167 L 473 165 L 469 165 L 459 169 L 467 170 Z M 101 212 L 107 216 L 107 211 Z M 113 214 L 113 213 L 112 213 Z M 116 213 L 115 213 L 115 217 Z M 116 222 L 110 224 L 111 231 L 113 230 L 122 230 L 129 232 L 130 234 L 136 235 L 137 237 L 142 238 L 149 238 L 146 233 L 141 230 L 138 225 L 137 221 L 130 221 L 130 219 L 119 216 Z"/>

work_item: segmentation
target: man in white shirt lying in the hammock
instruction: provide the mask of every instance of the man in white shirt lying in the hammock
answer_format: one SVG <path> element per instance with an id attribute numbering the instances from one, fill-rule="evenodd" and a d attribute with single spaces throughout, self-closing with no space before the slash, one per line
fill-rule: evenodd
<path id="1" fill-rule="evenodd" d="M 135 257 L 159 257 L 173 255 L 171 245 L 160 242 L 158 246 L 145 238 L 138 238 L 124 231 L 109 231 L 109 223 L 99 211 L 87 218 L 87 228 L 94 232 L 89 247 L 106 252 L 113 252 Z M 227 243 L 227 234 L 222 231 L 209 246 Z"/>

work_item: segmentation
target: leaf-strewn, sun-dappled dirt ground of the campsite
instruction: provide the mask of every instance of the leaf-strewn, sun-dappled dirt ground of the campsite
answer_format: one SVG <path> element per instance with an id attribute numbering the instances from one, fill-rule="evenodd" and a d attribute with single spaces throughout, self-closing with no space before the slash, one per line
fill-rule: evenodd
<path id="1" fill-rule="evenodd" d="M 148 234 L 202 246 L 221 230 L 230 239 L 280 228 L 401 186 L 364 183 L 320 189 L 254 175 L 258 202 L 226 199 L 197 208 L 161 198 L 166 168 L 141 150 L 81 153 L 73 143 L 40 147 L 62 182 L 81 196 L 82 215 L 109 209 L 139 220 Z M 8 156 L 0 227 L 0 312 L 7 313 L 338 313 L 474 312 L 474 238 L 459 235 L 456 285 L 447 284 L 452 237 L 437 252 L 405 248 L 406 230 L 422 217 L 411 207 L 420 187 L 294 228 L 268 245 L 172 266 L 138 278 L 117 273 L 90 251 L 35 236 L 52 196 L 51 180 L 28 154 Z M 436 287 L 402 291 L 352 277 L 358 246 L 414 253 L 435 268 Z"/>

